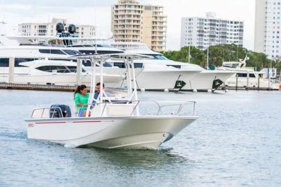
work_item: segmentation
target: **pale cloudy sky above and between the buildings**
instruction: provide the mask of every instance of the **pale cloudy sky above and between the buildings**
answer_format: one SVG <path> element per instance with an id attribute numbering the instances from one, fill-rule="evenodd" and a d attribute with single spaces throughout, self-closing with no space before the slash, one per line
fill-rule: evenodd
<path id="1" fill-rule="evenodd" d="M 0 21 L 10 26 L 24 22 L 49 22 L 53 17 L 68 23 L 96 26 L 99 37 L 110 37 L 111 5 L 117 0 L 0 0 Z M 205 17 L 244 21 L 244 47 L 253 50 L 255 0 L 139 0 L 139 3 L 164 6 L 167 15 L 167 50 L 180 49 L 182 17 Z"/>

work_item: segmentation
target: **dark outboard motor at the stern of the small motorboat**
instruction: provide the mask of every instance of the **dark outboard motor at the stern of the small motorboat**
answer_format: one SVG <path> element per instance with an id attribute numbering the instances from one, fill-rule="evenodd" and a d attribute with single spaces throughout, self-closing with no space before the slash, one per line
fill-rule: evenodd
<path id="1" fill-rule="evenodd" d="M 71 109 L 68 105 L 51 105 L 50 118 L 70 118 Z"/>

